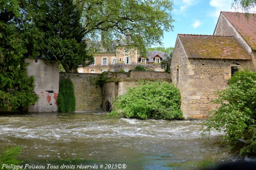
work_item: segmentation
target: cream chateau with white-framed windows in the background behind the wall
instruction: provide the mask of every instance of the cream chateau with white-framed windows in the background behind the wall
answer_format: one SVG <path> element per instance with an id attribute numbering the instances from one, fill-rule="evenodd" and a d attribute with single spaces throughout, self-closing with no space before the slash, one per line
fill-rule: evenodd
<path id="1" fill-rule="evenodd" d="M 129 48 L 125 44 L 119 45 L 116 41 L 113 41 L 108 49 L 103 47 L 100 42 L 96 43 L 95 46 L 98 48 L 98 52 L 93 54 L 94 63 L 87 67 L 78 68 L 79 73 L 114 72 L 117 63 L 122 64 L 121 69 L 125 72 L 132 70 L 137 63 L 152 64 L 155 71 L 164 71 L 160 67 L 160 63 L 162 59 L 166 58 L 167 54 L 161 51 L 148 51 L 146 57 L 139 57 L 137 49 Z"/>

